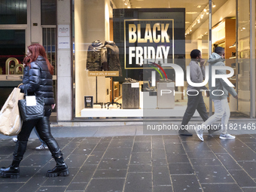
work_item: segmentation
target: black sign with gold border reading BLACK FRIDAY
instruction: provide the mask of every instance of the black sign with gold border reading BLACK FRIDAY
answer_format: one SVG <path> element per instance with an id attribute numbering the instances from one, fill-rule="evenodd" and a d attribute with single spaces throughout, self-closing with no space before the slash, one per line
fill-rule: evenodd
<path id="1" fill-rule="evenodd" d="M 174 58 L 174 22 L 163 20 L 124 20 L 124 66 L 140 69 L 142 65 L 168 63 Z"/>

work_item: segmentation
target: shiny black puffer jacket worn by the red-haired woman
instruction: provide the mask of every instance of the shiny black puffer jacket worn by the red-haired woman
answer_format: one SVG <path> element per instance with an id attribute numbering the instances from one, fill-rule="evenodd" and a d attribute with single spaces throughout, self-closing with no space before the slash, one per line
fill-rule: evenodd
<path id="1" fill-rule="evenodd" d="M 38 58 L 26 66 L 23 75 L 23 84 L 20 85 L 21 92 L 24 93 L 25 86 L 27 87 L 28 94 L 44 97 L 44 105 L 54 104 L 53 97 L 53 76 L 47 67 L 47 63 L 43 56 Z"/>

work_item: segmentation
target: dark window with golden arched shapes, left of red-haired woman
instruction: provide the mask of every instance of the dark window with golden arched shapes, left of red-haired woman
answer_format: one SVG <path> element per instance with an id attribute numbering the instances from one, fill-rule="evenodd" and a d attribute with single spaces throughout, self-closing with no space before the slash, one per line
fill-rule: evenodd
<path id="1" fill-rule="evenodd" d="M 22 82 L 25 52 L 25 30 L 0 30 L 0 108 Z"/>

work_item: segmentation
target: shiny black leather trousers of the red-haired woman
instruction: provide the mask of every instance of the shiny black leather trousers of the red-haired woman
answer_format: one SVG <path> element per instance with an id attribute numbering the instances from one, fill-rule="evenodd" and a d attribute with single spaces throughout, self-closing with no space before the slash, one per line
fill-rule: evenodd
<path id="1" fill-rule="evenodd" d="M 38 120 L 28 120 L 26 122 L 23 122 L 21 131 L 17 136 L 18 141 L 16 143 L 16 147 L 14 150 L 14 160 L 23 159 L 23 154 L 26 151 L 26 145 L 27 145 L 30 133 L 32 132 L 34 126 L 38 131 L 40 138 L 46 143 L 47 147 L 49 148 L 53 158 L 56 159 L 56 158 L 62 157 L 62 152 L 60 151 L 59 145 L 50 133 L 49 118 L 50 118 L 51 111 L 48 108 L 48 106 L 44 106 L 44 109 L 45 109 L 44 115 L 46 116 L 44 116 L 43 118 Z"/>

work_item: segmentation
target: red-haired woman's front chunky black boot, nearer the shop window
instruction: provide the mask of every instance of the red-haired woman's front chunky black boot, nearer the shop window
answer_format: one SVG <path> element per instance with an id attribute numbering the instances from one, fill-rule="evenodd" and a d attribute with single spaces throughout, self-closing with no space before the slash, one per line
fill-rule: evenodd
<path id="1" fill-rule="evenodd" d="M 53 169 L 47 171 L 47 177 L 57 177 L 57 176 L 68 176 L 69 169 L 66 163 L 64 162 L 63 157 L 54 158 L 56 161 L 56 166 Z"/>

